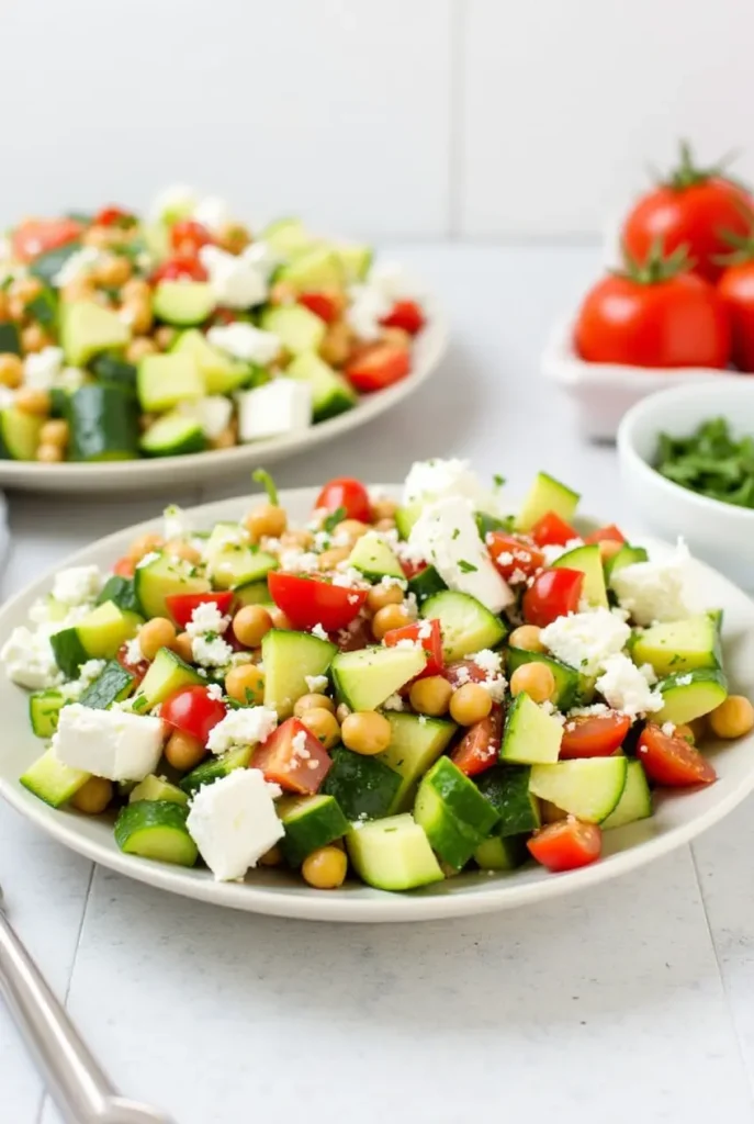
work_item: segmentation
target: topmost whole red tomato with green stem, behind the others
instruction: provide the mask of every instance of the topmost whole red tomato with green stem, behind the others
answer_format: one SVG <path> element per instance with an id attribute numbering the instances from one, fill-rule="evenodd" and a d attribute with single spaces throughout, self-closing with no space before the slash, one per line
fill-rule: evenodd
<path id="1" fill-rule="evenodd" d="M 715 259 L 730 248 L 725 236 L 746 233 L 752 203 L 750 192 L 726 179 L 720 165 L 696 167 L 684 143 L 679 167 L 629 212 L 623 244 L 638 262 L 657 243 L 669 253 L 685 246 L 694 272 L 716 281 L 723 266 Z"/>

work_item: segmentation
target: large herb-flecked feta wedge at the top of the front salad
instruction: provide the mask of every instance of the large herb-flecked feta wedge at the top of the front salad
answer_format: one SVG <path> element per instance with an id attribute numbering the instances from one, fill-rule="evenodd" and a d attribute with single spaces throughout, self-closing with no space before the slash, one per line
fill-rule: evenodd
<path id="1" fill-rule="evenodd" d="M 491 613 L 500 613 L 514 601 L 479 537 L 467 499 L 448 496 L 428 504 L 408 541 L 435 565 L 448 589 L 475 597 Z"/>

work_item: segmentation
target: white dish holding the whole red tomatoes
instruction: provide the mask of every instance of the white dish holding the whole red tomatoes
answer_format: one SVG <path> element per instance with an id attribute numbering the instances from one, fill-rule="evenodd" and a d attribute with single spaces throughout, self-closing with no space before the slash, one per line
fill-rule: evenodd
<path id="1" fill-rule="evenodd" d="M 588 363 L 573 346 L 575 315 L 561 320 L 542 360 L 544 373 L 573 399 L 579 426 L 587 437 L 615 441 L 626 410 L 667 387 L 699 386 L 714 381 L 719 387 L 738 386 L 748 375 L 709 366 L 628 366 L 621 363 Z"/>

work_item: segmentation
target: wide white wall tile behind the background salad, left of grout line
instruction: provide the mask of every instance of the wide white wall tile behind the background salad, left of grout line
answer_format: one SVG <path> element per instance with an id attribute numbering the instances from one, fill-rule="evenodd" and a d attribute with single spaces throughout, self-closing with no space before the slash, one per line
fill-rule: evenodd
<path id="1" fill-rule="evenodd" d="M 24 112 L 6 121 L 2 214 L 99 207 L 124 185 L 139 205 L 188 181 L 257 223 L 303 208 L 343 235 L 440 236 L 449 6 L 131 0 L 115 21 L 96 0 L 4 6 Z"/>

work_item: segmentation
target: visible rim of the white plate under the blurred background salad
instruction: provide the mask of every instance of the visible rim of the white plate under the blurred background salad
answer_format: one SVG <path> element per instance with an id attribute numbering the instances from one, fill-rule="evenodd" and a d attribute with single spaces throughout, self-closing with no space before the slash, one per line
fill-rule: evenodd
<path id="1" fill-rule="evenodd" d="M 203 484 L 237 475 L 249 469 L 302 453 L 312 445 L 355 429 L 408 398 L 429 378 L 443 359 L 448 342 L 447 320 L 430 298 L 423 298 L 428 312 L 426 326 L 416 337 L 411 371 L 387 390 L 360 398 L 345 414 L 312 425 L 296 434 L 256 441 L 248 445 L 185 456 L 158 456 L 138 461 L 98 461 L 94 464 L 38 464 L 0 460 L 0 488 L 45 492 L 136 492 L 180 488 L 201 480 Z"/>

